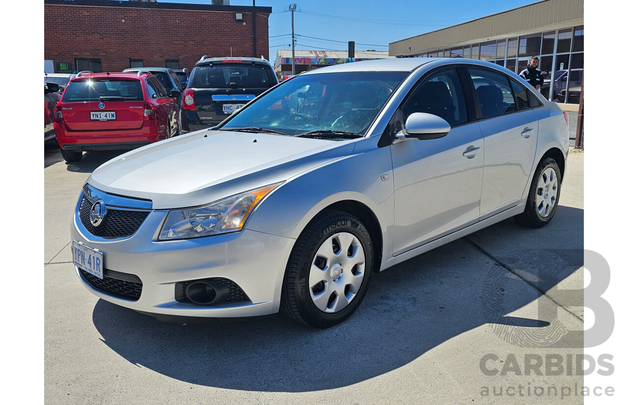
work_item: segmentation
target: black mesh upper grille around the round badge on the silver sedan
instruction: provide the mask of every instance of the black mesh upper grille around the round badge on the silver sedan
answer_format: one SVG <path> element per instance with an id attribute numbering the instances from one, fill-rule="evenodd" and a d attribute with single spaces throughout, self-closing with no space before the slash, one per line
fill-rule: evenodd
<path id="1" fill-rule="evenodd" d="M 105 239 L 120 239 L 133 235 L 144 222 L 150 211 L 120 210 L 107 207 L 107 215 L 98 227 L 89 220 L 89 212 L 94 203 L 83 196 L 78 208 L 78 217 L 90 234 Z"/>

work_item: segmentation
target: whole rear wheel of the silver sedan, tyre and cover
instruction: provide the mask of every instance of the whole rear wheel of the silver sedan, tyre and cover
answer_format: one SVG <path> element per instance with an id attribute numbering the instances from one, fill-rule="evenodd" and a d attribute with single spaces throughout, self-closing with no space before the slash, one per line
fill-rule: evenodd
<path id="1" fill-rule="evenodd" d="M 534 172 L 526 209 L 514 219 L 521 225 L 541 228 L 554 217 L 560 198 L 561 174 L 552 158 L 544 158 Z"/>

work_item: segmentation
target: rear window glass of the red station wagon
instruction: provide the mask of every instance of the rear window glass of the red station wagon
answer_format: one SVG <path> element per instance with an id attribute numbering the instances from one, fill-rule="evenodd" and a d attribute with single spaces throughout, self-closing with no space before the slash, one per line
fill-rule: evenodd
<path id="1" fill-rule="evenodd" d="M 144 100 L 139 80 L 94 80 L 70 82 L 63 93 L 62 102 L 85 102 L 101 100 Z"/>

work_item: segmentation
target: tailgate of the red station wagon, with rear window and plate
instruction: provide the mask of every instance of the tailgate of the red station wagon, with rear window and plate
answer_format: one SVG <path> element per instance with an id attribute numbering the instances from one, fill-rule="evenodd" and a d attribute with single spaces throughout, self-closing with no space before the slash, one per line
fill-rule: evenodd
<path id="1" fill-rule="evenodd" d="M 139 129 L 144 124 L 139 80 L 85 78 L 70 82 L 61 107 L 69 131 Z"/>

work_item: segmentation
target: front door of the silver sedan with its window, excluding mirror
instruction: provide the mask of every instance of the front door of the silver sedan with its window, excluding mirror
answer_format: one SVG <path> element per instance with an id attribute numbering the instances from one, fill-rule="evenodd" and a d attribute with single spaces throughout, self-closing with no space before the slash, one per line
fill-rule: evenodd
<path id="1" fill-rule="evenodd" d="M 479 220 L 484 139 L 469 122 L 457 70 L 432 73 L 399 107 L 390 128 L 413 112 L 435 114 L 452 130 L 443 138 L 391 145 L 394 175 L 394 255 Z M 394 130 L 393 130 L 394 131 Z"/>

